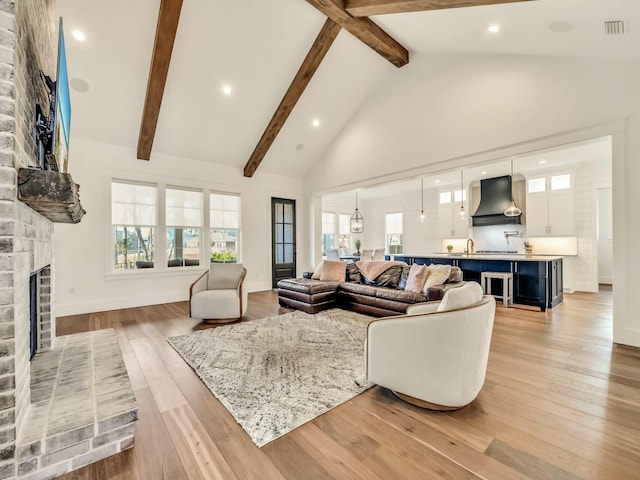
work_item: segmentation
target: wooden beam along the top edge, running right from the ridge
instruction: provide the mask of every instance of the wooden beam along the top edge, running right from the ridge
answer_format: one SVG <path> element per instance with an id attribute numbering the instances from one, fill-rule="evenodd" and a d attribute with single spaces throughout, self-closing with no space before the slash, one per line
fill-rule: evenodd
<path id="1" fill-rule="evenodd" d="M 353 17 L 369 17 L 388 13 L 423 12 L 529 1 L 532 0 L 344 0 L 344 9 Z"/>

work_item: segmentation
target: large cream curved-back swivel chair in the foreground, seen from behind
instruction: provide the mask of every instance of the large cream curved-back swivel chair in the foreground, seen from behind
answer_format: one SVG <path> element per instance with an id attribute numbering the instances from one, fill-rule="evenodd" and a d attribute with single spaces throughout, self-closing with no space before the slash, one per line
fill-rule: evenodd
<path id="1" fill-rule="evenodd" d="M 484 384 L 496 302 L 476 282 L 369 324 L 367 377 L 413 405 L 456 410 Z"/>

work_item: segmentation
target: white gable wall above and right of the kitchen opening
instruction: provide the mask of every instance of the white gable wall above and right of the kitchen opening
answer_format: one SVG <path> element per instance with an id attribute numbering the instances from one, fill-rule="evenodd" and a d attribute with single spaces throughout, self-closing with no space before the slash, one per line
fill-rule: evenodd
<path id="1" fill-rule="evenodd" d="M 413 54 L 305 177 L 367 185 L 613 134 L 614 341 L 640 346 L 640 62 Z M 343 168 L 349 165 L 348 169 Z M 335 172 L 341 172 L 339 176 Z M 363 177 L 362 173 L 366 172 Z"/>

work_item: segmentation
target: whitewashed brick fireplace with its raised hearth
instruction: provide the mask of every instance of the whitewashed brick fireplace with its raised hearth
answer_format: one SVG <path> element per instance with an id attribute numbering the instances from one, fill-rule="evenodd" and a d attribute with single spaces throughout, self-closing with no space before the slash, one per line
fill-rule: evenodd
<path id="1" fill-rule="evenodd" d="M 0 480 L 53 478 L 129 448 L 137 419 L 113 330 L 55 338 L 53 223 L 17 199 L 17 170 L 38 163 L 39 71 L 55 77 L 57 23 L 54 0 L 0 0 Z"/>

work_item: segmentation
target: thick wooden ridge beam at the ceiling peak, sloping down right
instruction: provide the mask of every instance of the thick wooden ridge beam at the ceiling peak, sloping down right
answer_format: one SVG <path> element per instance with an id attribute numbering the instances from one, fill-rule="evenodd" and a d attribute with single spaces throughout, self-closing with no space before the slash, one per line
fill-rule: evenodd
<path id="1" fill-rule="evenodd" d="M 353 18 L 344 10 L 341 0 L 307 0 L 307 2 L 396 67 L 409 63 L 409 52 L 406 48 L 368 18 Z"/>

